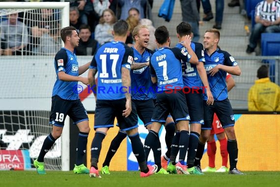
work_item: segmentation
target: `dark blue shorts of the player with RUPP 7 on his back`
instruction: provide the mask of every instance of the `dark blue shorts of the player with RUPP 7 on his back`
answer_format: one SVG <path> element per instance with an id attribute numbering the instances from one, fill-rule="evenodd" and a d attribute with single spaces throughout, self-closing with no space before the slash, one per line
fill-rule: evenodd
<path id="1" fill-rule="evenodd" d="M 175 119 L 175 122 L 181 120 L 190 121 L 186 98 L 183 91 L 176 91 L 176 93 L 174 93 L 173 90 L 170 94 L 165 92 L 157 94 L 157 102 L 152 122 L 165 124 L 169 113 L 173 119 Z"/>

